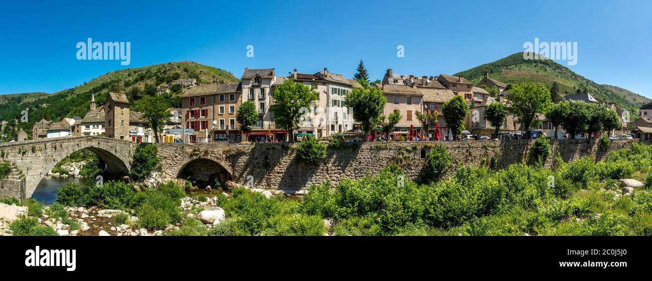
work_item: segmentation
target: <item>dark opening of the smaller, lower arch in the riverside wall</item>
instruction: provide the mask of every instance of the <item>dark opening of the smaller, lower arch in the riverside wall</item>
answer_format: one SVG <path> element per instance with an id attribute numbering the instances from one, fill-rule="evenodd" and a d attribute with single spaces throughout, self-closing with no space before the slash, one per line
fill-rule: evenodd
<path id="1" fill-rule="evenodd" d="M 215 180 L 224 186 L 226 181 L 233 180 L 233 172 L 224 161 L 211 156 L 192 156 L 173 174 L 178 179 L 191 180 L 203 188 L 215 186 Z"/>

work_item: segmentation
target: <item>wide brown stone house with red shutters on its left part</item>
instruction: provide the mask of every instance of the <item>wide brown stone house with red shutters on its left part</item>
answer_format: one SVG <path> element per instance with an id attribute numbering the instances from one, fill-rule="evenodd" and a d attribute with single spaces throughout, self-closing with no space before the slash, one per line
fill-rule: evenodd
<path id="1" fill-rule="evenodd" d="M 235 120 L 242 102 L 242 84 L 207 84 L 187 90 L 182 96 L 185 128 L 192 129 L 186 142 L 230 140 L 239 142 L 241 131 Z"/>

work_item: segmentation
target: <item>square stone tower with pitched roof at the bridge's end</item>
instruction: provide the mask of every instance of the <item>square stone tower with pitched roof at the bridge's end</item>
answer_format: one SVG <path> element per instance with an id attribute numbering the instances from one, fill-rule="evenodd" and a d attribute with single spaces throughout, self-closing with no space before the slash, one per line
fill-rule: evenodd
<path id="1" fill-rule="evenodd" d="M 109 93 L 104 103 L 106 137 L 129 139 L 129 101 L 124 94 Z"/>

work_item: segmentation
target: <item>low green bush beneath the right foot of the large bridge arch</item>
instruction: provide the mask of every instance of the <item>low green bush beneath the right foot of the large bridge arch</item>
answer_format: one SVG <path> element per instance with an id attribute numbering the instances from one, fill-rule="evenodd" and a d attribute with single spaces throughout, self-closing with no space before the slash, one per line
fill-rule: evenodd
<path id="1" fill-rule="evenodd" d="M 107 181 L 103 185 L 87 185 L 83 196 L 86 206 L 125 209 L 134 198 L 134 187 L 122 181 Z"/>

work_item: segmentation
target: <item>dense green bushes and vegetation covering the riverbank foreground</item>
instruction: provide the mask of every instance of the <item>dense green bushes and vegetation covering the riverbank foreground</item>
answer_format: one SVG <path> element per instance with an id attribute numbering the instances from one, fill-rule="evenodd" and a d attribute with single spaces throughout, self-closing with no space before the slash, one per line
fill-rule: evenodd
<path id="1" fill-rule="evenodd" d="M 427 167 L 438 174 L 450 161 L 445 150 L 434 149 Z M 198 194 L 186 208 L 182 201 L 192 198 L 177 183 L 134 191 L 108 181 L 85 191 L 67 185 L 57 202 L 121 209 L 138 219 L 121 215 L 116 223 L 165 228 L 164 235 L 652 235 L 651 165 L 652 146 L 632 143 L 604 161 L 557 157 L 552 169 L 540 162 L 502 170 L 459 166 L 448 178 L 423 183 L 391 165 L 359 180 L 312 185 L 301 198 L 233 187 L 230 194 Z M 626 178 L 644 185 L 623 187 L 619 180 Z M 30 217 L 65 215 L 59 206 L 63 211 L 25 205 Z M 224 220 L 201 222 L 198 214 L 210 207 L 221 208 Z M 48 234 L 29 218 L 15 227 L 18 234 Z"/>

